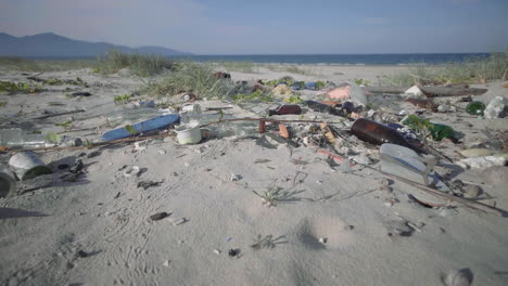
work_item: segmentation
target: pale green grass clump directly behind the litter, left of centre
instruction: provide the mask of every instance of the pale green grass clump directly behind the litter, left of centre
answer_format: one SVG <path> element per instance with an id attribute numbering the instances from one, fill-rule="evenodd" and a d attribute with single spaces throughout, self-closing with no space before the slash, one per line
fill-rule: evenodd
<path id="1" fill-rule="evenodd" d="M 150 83 L 145 91 L 155 96 L 173 96 L 188 91 L 200 99 L 228 99 L 233 90 L 233 81 L 216 77 L 212 65 L 180 62 L 176 72 L 160 82 Z"/>

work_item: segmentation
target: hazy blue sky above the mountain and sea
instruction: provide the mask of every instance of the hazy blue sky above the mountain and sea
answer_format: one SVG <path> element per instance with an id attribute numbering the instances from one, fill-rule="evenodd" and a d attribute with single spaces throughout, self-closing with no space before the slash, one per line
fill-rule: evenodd
<path id="1" fill-rule="evenodd" d="M 196 54 L 492 52 L 508 0 L 0 0 L 0 31 Z"/>

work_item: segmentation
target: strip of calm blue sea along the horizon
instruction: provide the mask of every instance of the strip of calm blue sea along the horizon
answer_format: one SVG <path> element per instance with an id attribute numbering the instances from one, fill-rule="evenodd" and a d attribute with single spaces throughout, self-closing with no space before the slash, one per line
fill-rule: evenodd
<path id="1" fill-rule="evenodd" d="M 245 54 L 245 55 L 183 55 L 169 56 L 199 62 L 244 61 L 281 64 L 332 64 L 332 65 L 407 65 L 458 63 L 472 56 L 488 56 L 488 53 L 414 53 L 414 54 Z M 35 60 L 71 60 L 73 57 L 33 57 Z M 82 57 L 80 57 L 82 58 Z M 88 57 L 92 58 L 92 57 Z"/>

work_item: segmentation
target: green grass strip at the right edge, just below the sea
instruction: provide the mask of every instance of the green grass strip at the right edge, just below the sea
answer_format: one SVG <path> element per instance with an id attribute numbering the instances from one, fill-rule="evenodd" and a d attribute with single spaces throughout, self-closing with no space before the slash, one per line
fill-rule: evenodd
<path id="1" fill-rule="evenodd" d="M 415 65 L 408 73 L 380 78 L 381 84 L 450 84 L 486 83 L 491 80 L 508 79 L 508 51 L 473 56 L 462 63 L 444 66 Z"/>

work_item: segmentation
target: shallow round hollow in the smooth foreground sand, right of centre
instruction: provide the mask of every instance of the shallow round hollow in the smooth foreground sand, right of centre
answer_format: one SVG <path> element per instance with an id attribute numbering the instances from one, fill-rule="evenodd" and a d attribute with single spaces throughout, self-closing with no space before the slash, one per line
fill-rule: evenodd
<path id="1" fill-rule="evenodd" d="M 339 218 L 316 217 L 302 220 L 294 233 L 297 242 L 312 249 L 340 249 L 353 245 L 351 227 Z"/>

